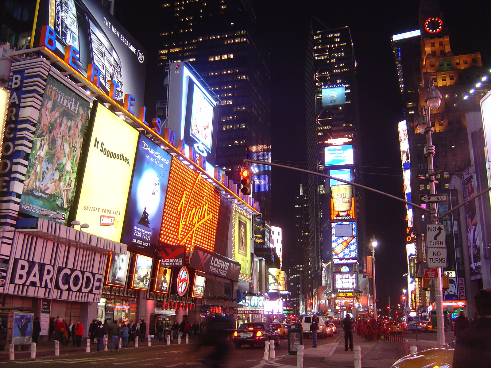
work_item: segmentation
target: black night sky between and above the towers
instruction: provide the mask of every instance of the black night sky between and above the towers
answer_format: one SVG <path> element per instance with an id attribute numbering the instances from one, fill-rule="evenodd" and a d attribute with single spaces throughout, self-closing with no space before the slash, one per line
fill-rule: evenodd
<path id="1" fill-rule="evenodd" d="M 159 1 L 121 0 L 116 17 L 142 43 L 149 55 L 156 53 L 159 20 L 152 6 Z M 270 51 L 271 136 L 273 162 L 304 166 L 305 91 L 304 64 L 309 24 L 313 16 L 328 27 L 350 26 L 359 90 L 360 126 L 365 185 L 402 197 L 403 182 L 397 123 L 403 120 L 402 98 L 397 85 L 391 36 L 419 28 L 419 1 L 257 1 L 255 13 Z M 442 0 L 445 26 L 450 30 L 454 54 L 481 52 L 483 66 L 491 64 L 491 1 Z M 118 14 L 119 13 L 119 14 Z M 119 15 L 119 16 L 118 16 Z M 155 59 L 154 59 L 155 60 Z M 149 58 L 147 83 L 155 66 Z M 145 96 L 150 112 L 151 93 Z M 294 199 L 301 177 L 273 168 L 273 225 L 283 229 L 284 259 L 294 238 Z M 385 313 L 387 297 L 399 302 L 407 272 L 405 208 L 402 203 L 367 192 L 367 234 L 379 240 L 376 250 L 378 307 Z"/>

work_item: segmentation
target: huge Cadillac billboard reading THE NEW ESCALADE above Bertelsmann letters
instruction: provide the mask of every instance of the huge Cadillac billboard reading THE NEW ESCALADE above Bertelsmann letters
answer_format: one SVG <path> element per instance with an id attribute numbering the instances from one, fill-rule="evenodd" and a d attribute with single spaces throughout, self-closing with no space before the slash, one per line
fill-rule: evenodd
<path id="1" fill-rule="evenodd" d="M 31 47 L 39 46 L 41 28 L 55 30 L 53 51 L 65 59 L 65 47 L 80 53 L 75 62 L 79 73 L 87 75 L 89 64 L 101 71 L 99 87 L 109 95 L 109 81 L 117 83 L 115 100 L 123 105 L 130 93 L 136 99 L 134 111 L 143 106 L 147 53 L 135 38 L 97 0 L 38 0 Z M 44 40 L 43 40 L 44 41 Z"/>

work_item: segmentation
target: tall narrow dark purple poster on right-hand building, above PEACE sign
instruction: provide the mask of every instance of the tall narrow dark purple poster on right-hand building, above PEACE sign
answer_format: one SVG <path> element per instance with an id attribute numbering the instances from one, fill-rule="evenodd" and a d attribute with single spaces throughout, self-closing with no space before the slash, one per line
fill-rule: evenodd
<path id="1" fill-rule="evenodd" d="M 474 183 L 472 175 L 464 179 L 464 201 L 472 197 Z M 477 226 L 476 204 L 471 201 L 464 205 L 465 229 L 467 232 L 467 249 L 469 252 L 470 277 L 472 280 L 480 278 L 481 274 L 481 251 L 479 245 L 479 229 Z"/>

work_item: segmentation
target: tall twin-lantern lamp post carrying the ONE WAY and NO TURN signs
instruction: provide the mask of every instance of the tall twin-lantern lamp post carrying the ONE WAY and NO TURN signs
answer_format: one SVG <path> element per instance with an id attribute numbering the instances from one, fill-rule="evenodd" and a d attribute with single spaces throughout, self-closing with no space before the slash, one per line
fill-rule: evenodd
<path id="1" fill-rule="evenodd" d="M 436 194 L 435 190 L 435 170 L 433 168 L 433 157 L 435 156 L 435 146 L 432 144 L 433 127 L 431 126 L 430 112 L 440 107 L 441 94 L 435 88 L 435 82 L 433 78 L 430 78 L 430 85 L 426 92 L 425 102 L 428 107 L 422 105 L 420 109 L 420 115 L 416 120 L 416 127 L 420 133 L 426 135 L 425 156 L 428 159 L 428 173 L 425 180 L 430 183 L 430 194 Z M 430 215 L 431 223 L 438 224 L 438 213 L 436 209 L 436 203 L 430 203 Z M 441 291 L 441 268 L 437 267 L 438 277 L 436 278 L 435 286 L 435 304 L 436 304 L 436 335 L 438 345 L 445 343 L 445 327 L 443 324 L 443 302 Z"/>

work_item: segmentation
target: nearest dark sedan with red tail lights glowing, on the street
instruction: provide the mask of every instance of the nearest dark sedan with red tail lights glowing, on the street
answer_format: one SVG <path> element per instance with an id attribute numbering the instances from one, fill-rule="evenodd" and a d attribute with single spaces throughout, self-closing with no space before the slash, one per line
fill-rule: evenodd
<path id="1" fill-rule="evenodd" d="M 280 334 L 267 322 L 247 322 L 234 331 L 232 341 L 235 347 L 240 349 L 242 345 L 264 345 L 267 341 L 274 340 L 274 345 L 279 346 Z"/>

